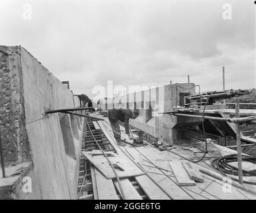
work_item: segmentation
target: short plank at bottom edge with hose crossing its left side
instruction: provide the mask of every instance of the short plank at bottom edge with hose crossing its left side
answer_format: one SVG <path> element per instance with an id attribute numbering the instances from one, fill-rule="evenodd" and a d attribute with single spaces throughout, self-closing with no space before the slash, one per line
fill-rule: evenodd
<path id="1" fill-rule="evenodd" d="M 115 187 L 121 194 L 119 184 L 117 180 L 114 180 Z M 134 188 L 133 184 L 127 179 L 120 179 L 121 187 L 123 188 L 123 192 L 125 193 L 126 200 L 143 200 L 137 190 Z"/>

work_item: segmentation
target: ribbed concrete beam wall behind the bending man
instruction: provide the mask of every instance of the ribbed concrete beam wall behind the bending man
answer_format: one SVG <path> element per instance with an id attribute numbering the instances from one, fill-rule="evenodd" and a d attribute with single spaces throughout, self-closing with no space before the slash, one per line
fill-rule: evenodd
<path id="1" fill-rule="evenodd" d="M 195 95 L 195 84 L 165 85 L 115 99 L 103 99 L 101 108 L 107 110 L 113 106 L 137 110 L 139 116 L 135 120 L 130 119 L 131 126 L 173 144 L 178 138 L 175 126 L 182 120 L 177 120 L 176 116 L 169 114 L 159 114 L 159 112 L 169 112 L 173 111 L 174 107 L 179 107 L 183 93 Z"/>

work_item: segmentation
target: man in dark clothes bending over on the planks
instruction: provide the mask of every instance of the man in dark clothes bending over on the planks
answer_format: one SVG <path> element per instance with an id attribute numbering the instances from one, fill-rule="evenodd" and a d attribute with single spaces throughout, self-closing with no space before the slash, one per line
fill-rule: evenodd
<path id="1" fill-rule="evenodd" d="M 107 116 L 109 117 L 109 122 L 111 124 L 111 128 L 113 130 L 115 140 L 117 140 L 117 144 L 119 146 L 125 146 L 125 143 L 121 141 L 121 131 L 119 126 L 119 121 L 124 123 L 125 132 L 129 136 L 129 139 L 132 140 L 133 136 L 131 136 L 129 132 L 129 119 L 135 119 L 139 116 L 138 112 L 131 111 L 129 109 L 124 108 L 113 108 L 107 110 Z"/>

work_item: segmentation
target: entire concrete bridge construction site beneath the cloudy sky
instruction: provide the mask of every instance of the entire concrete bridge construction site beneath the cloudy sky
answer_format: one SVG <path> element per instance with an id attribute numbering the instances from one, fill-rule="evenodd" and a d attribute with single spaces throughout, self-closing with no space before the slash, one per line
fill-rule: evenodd
<path id="1" fill-rule="evenodd" d="M 0 62 L 1 199 L 256 198 L 255 89 L 175 83 L 90 107 L 23 47 Z M 137 112 L 136 141 L 120 122 L 117 144 L 111 108 Z"/>

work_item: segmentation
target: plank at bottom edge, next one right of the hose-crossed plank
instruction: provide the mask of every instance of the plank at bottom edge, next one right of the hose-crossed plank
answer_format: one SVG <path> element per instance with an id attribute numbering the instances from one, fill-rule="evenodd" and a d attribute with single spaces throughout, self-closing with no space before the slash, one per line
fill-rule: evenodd
<path id="1" fill-rule="evenodd" d="M 141 175 L 135 177 L 139 186 L 143 189 L 147 197 L 151 200 L 170 200 L 169 196 L 157 186 L 153 180 L 151 180 L 147 175 Z"/>

